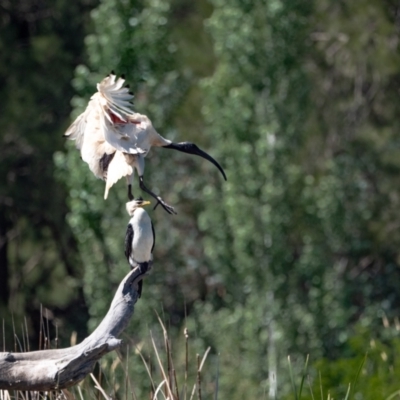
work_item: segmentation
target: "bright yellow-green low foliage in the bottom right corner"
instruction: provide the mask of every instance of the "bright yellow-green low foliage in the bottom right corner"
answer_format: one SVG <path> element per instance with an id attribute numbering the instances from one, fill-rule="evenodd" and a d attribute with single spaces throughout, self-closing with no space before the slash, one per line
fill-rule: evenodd
<path id="1" fill-rule="evenodd" d="M 320 386 L 325 397 L 335 399 L 345 398 L 347 392 L 349 399 L 396 398 L 400 390 L 398 327 L 386 328 L 380 336 L 373 338 L 369 328 L 358 327 L 347 342 L 346 356 L 337 360 L 322 358 L 313 363 L 312 385 L 302 398 L 311 399 L 311 391 L 319 398 Z"/>

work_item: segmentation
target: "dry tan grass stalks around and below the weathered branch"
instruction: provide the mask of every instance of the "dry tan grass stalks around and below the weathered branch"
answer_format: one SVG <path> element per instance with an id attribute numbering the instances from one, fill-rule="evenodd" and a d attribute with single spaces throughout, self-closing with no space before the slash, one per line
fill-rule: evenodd
<path id="1" fill-rule="evenodd" d="M 16 333 L 13 321 L 14 351 L 30 351 L 29 332 L 25 319 L 21 327 L 21 336 Z M 159 325 L 162 331 L 162 341 L 158 340 L 153 332 L 149 332 L 151 342 L 150 354 L 146 355 L 141 347 L 135 344 L 128 344 L 124 351 L 117 350 L 116 353 L 103 357 L 97 363 L 95 371 L 87 376 L 78 385 L 68 389 L 50 392 L 22 392 L 0 390 L 0 400 L 86 400 L 86 399 L 142 399 L 143 394 L 137 394 L 138 387 L 134 384 L 135 374 L 131 366 L 141 360 L 144 367 L 148 384 L 146 398 L 152 400 L 202 400 L 202 370 L 205 366 L 210 347 L 207 348 L 201 357 L 196 354 L 195 359 L 190 357 L 190 342 L 187 328 L 184 329 L 184 371 L 181 377 L 177 376 L 174 357 L 172 353 L 171 339 L 165 324 L 158 316 Z M 50 338 L 50 329 L 47 318 L 43 318 L 41 312 L 39 349 L 50 349 L 58 345 L 58 330 L 56 337 Z M 71 345 L 75 344 L 76 336 L 71 336 Z M 129 339 L 128 339 L 129 342 Z M 3 351 L 6 351 L 4 320 L 3 320 Z M 134 353 L 136 359 L 133 360 Z M 137 357 L 138 356 L 138 357 Z M 103 363 L 103 361 L 106 361 Z M 111 360 L 111 364 L 108 361 Z M 154 361 L 155 360 L 155 361 Z M 192 364 L 192 365 L 191 365 Z M 192 373 L 194 370 L 195 373 Z M 217 377 L 218 379 L 218 377 Z M 178 382 L 182 384 L 179 385 Z M 141 385 L 143 386 L 143 385 Z M 217 396 L 217 393 L 216 393 Z M 217 399 L 217 397 L 215 397 Z"/>

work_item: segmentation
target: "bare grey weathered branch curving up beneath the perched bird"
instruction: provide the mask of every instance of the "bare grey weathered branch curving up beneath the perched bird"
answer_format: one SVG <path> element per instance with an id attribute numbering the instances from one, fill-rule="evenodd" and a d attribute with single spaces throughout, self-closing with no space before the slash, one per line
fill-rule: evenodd
<path id="1" fill-rule="evenodd" d="M 97 360 L 121 345 L 118 336 L 133 315 L 139 297 L 137 283 L 144 274 L 136 268 L 125 276 L 100 325 L 78 345 L 26 353 L 0 352 L 0 389 L 48 391 L 85 378 Z"/>

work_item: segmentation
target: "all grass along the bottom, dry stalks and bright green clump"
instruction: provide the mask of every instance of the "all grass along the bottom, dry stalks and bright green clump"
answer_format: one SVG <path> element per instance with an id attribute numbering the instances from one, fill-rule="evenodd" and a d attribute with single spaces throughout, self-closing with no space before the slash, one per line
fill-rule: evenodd
<path id="1" fill-rule="evenodd" d="M 41 315 L 41 331 L 39 347 L 42 349 L 58 345 L 58 331 L 51 339 L 46 313 Z M 126 346 L 116 352 L 106 355 L 92 374 L 80 384 L 68 389 L 54 392 L 8 392 L 0 391 L 0 400 L 218 400 L 220 393 L 220 356 L 214 354 L 216 374 L 210 373 L 208 366 L 208 347 L 203 354 L 194 351 L 196 346 L 190 339 L 187 328 L 184 328 L 179 340 L 172 342 L 168 329 L 158 317 L 158 326 L 149 331 L 148 337 L 141 343 L 134 343 L 130 337 L 125 337 Z M 3 351 L 6 349 L 3 321 Z M 26 320 L 17 329 L 13 324 L 12 345 L 16 351 L 29 351 L 29 332 Z M 353 340 L 352 357 L 337 360 L 319 360 L 319 363 L 309 365 L 309 356 L 303 365 L 293 363 L 287 358 L 286 371 L 282 369 L 280 386 L 290 384 L 289 393 L 280 394 L 279 399 L 290 400 L 384 400 L 400 399 L 398 374 L 400 360 L 396 354 L 400 351 L 400 339 L 380 342 L 371 340 L 361 332 Z M 71 344 L 76 341 L 72 335 Z M 369 345 L 367 344 L 369 343 Z M 389 347 L 389 345 L 391 347 Z M 369 346 L 369 347 L 368 347 Z M 390 351 L 391 349 L 391 351 Z M 365 352 L 368 350 L 368 353 Z M 360 356 L 364 351 L 364 356 Z M 239 386 L 241 371 L 227 371 L 223 378 L 232 372 L 237 372 L 228 384 L 231 388 Z M 206 374 L 204 375 L 204 370 Z M 285 376 L 287 379 L 283 379 Z M 226 386 L 226 381 L 225 381 Z M 256 384 L 256 383 L 255 383 Z M 233 386 L 232 386 L 233 385 Z M 226 387 L 223 390 L 226 390 Z M 234 393 L 235 395 L 235 393 Z M 233 397 L 231 397 L 233 398 Z M 235 397 L 238 398 L 238 397 Z M 258 398 L 267 398 L 264 395 Z M 257 398 L 256 398 L 257 399 Z"/>

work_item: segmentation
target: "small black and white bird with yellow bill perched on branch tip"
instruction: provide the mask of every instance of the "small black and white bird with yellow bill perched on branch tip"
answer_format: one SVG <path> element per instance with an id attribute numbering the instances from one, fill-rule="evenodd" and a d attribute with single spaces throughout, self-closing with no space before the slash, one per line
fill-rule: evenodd
<path id="1" fill-rule="evenodd" d="M 149 214 L 142 208 L 150 204 L 142 199 L 126 203 L 126 211 L 131 216 L 125 235 L 125 256 L 131 269 L 139 267 L 145 273 L 153 264 L 153 249 L 156 241 L 153 223 Z M 139 282 L 139 297 L 143 282 Z"/>

